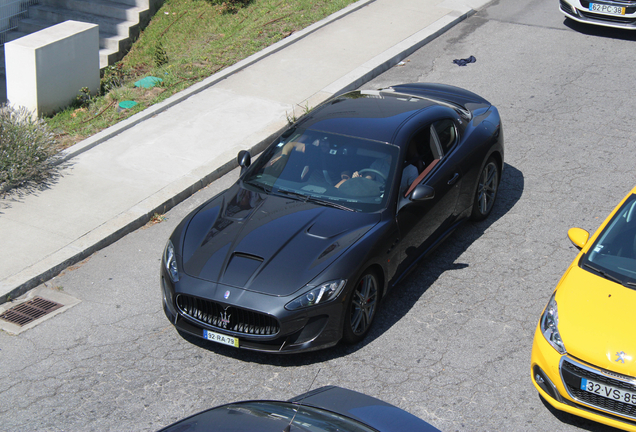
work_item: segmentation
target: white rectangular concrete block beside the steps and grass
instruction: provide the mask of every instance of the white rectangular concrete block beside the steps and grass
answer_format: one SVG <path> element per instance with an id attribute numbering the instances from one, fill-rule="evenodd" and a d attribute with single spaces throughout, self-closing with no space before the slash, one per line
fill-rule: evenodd
<path id="1" fill-rule="evenodd" d="M 65 21 L 5 44 L 9 103 L 42 116 L 67 107 L 82 87 L 97 93 L 98 28 Z"/>

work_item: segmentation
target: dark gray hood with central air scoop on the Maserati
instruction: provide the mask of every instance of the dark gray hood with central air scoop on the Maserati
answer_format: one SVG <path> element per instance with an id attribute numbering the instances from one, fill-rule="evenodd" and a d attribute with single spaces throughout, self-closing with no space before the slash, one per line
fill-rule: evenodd
<path id="1" fill-rule="evenodd" d="M 379 220 L 379 214 L 235 185 L 192 217 L 183 239 L 183 270 L 210 282 L 286 296 L 311 282 Z"/>

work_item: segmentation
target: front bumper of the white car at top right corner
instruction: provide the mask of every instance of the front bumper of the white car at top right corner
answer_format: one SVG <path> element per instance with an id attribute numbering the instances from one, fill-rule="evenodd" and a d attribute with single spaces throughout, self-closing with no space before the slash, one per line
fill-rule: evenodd
<path id="1" fill-rule="evenodd" d="M 624 14 L 603 13 L 591 10 L 596 3 L 603 6 L 617 6 Z M 559 9 L 568 18 L 575 21 L 595 24 L 605 27 L 636 30 L 636 1 L 587 1 L 587 0 L 559 0 Z"/>

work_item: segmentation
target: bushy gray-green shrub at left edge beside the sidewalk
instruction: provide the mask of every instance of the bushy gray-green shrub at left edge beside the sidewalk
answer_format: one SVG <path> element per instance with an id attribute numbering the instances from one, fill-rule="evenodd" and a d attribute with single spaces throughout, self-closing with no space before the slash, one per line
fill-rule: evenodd
<path id="1" fill-rule="evenodd" d="M 26 108 L 0 105 L 0 191 L 46 179 L 56 153 L 46 123 Z"/>

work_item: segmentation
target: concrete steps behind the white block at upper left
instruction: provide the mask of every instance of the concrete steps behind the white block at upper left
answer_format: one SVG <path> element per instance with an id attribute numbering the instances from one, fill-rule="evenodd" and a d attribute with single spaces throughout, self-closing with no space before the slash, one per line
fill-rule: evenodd
<path id="1" fill-rule="evenodd" d="M 97 24 L 99 67 L 103 69 L 128 52 L 161 4 L 163 0 L 40 0 L 29 7 L 29 18 L 21 20 L 18 30 L 7 37 L 17 39 L 67 20 Z"/>

